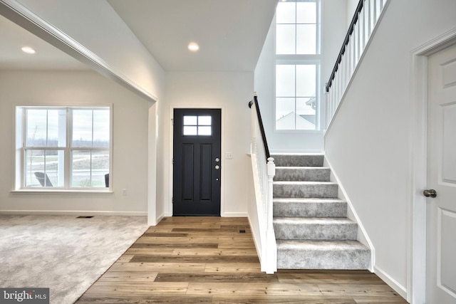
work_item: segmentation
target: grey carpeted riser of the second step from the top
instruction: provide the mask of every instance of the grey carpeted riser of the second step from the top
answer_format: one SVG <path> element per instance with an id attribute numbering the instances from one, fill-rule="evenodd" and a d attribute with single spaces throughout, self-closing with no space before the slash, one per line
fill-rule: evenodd
<path id="1" fill-rule="evenodd" d="M 328 168 L 277 168 L 275 181 L 310 181 L 310 182 L 329 182 L 331 170 Z"/>

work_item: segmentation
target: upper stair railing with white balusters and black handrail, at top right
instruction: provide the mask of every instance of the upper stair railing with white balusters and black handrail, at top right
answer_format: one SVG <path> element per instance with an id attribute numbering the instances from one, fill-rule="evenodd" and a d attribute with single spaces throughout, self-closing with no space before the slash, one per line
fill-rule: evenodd
<path id="1" fill-rule="evenodd" d="M 360 0 L 358 3 L 336 65 L 326 83 L 326 129 L 336 115 L 346 88 L 363 58 L 363 53 L 388 2 L 388 0 Z"/>

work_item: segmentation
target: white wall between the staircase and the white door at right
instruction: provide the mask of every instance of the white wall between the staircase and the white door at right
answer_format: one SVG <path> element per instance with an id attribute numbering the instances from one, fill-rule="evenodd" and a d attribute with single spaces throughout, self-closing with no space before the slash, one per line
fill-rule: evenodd
<path id="1" fill-rule="evenodd" d="M 390 1 L 338 115 L 326 157 L 375 247 L 375 272 L 407 293 L 413 159 L 410 52 L 456 27 L 452 0 Z"/>

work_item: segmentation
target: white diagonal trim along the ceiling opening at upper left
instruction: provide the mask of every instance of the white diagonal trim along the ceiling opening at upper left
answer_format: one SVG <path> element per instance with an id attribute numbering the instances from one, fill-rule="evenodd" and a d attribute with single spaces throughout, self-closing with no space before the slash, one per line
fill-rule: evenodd
<path id="1" fill-rule="evenodd" d="M 90 68 L 98 71 L 98 73 L 115 80 L 115 82 L 133 91 L 133 93 L 140 95 L 142 98 L 146 98 L 152 102 L 157 101 L 157 97 L 123 73 L 120 73 L 119 70 L 110 66 L 103 58 L 95 55 L 95 53 L 81 45 L 81 43 L 78 43 L 78 41 L 63 33 L 63 31 L 44 21 L 34 14 L 33 11 L 30 11 L 18 2 L 14 0 L 0 0 L 0 14 L 42 38 L 44 41 L 51 43 L 51 45 L 61 51 L 73 56 L 78 61 L 86 63 Z"/>

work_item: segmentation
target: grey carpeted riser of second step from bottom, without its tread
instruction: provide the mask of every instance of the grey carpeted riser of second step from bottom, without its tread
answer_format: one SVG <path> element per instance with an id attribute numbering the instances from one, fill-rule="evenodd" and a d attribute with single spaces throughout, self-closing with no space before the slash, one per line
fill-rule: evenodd
<path id="1" fill-rule="evenodd" d="M 356 240 L 358 224 L 276 224 L 276 239 L 281 240 Z"/>

